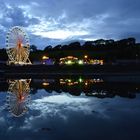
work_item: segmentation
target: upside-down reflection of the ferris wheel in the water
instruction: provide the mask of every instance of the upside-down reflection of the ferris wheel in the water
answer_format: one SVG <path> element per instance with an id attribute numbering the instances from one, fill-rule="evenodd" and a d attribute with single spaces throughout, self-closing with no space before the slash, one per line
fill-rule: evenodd
<path id="1" fill-rule="evenodd" d="M 7 104 L 9 112 L 15 117 L 20 117 L 27 112 L 29 103 L 29 92 L 31 80 L 13 80 L 9 81 L 7 95 Z"/>

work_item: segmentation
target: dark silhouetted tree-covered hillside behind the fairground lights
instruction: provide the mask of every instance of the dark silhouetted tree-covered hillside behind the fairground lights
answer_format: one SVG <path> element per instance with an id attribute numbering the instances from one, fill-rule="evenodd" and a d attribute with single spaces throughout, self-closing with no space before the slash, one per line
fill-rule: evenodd
<path id="1" fill-rule="evenodd" d="M 30 46 L 31 61 L 42 59 L 43 55 L 58 60 L 59 58 L 72 55 L 83 58 L 104 59 L 114 61 L 116 59 L 140 59 L 140 43 L 136 43 L 135 38 L 127 38 L 118 41 L 99 39 L 95 41 L 72 42 L 68 45 L 46 46 L 40 50 L 36 45 Z M 0 49 L 0 60 L 7 60 L 6 49 Z"/>

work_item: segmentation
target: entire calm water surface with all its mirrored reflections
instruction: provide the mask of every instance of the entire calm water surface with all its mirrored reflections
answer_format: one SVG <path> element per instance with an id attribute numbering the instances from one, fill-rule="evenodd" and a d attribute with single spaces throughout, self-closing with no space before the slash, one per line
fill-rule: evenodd
<path id="1" fill-rule="evenodd" d="M 1 79 L 0 139 L 139 140 L 140 82 Z"/>

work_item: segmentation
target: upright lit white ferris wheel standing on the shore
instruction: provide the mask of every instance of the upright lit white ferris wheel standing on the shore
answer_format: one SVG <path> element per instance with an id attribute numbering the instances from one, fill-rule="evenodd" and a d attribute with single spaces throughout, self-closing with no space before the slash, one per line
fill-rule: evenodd
<path id="1" fill-rule="evenodd" d="M 14 26 L 7 33 L 6 52 L 9 57 L 8 64 L 31 64 L 29 37 L 22 27 Z"/>

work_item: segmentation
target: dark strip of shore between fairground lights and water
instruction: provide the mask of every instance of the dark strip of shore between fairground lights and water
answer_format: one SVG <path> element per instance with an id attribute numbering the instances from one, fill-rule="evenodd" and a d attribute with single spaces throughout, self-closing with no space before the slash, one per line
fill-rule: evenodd
<path id="1" fill-rule="evenodd" d="M 140 76 L 140 65 L 0 65 L 1 77 L 43 78 L 48 76 Z"/>

